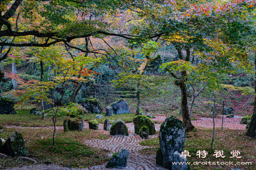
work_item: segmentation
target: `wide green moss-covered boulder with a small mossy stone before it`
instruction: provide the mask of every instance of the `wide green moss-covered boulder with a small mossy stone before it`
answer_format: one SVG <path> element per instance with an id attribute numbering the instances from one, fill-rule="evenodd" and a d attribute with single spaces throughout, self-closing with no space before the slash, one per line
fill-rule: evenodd
<path id="1" fill-rule="evenodd" d="M 155 123 L 144 115 L 137 115 L 133 118 L 134 133 L 139 135 L 141 127 L 146 126 L 149 129 L 149 135 L 156 135 Z"/>

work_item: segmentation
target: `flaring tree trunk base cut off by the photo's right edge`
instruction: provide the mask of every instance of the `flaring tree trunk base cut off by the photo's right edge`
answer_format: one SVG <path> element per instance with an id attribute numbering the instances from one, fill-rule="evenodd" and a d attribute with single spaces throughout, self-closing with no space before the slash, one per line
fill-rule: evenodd
<path id="1" fill-rule="evenodd" d="M 254 55 L 254 64 L 255 64 L 255 72 L 254 72 L 254 88 L 256 92 L 256 54 Z M 254 107 L 253 107 L 253 115 L 251 116 L 251 122 L 249 124 L 249 127 L 246 131 L 246 135 L 250 136 L 252 138 L 256 138 L 256 95 L 254 97 Z"/>

